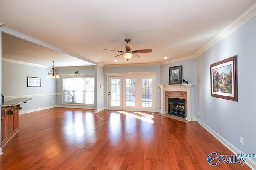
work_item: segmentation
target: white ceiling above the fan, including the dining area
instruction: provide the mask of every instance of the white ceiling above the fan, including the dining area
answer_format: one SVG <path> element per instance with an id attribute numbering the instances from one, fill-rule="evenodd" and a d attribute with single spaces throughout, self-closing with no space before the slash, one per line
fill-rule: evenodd
<path id="1" fill-rule="evenodd" d="M 2 34 L 2 57 L 45 66 L 51 66 L 55 60 L 56 67 L 171 63 L 195 57 L 255 2 L 2 0 L 1 27 L 61 49 L 57 52 Z M 124 51 L 126 38 L 131 39 L 132 50 L 153 52 L 140 53 L 140 59 L 126 61 L 121 56 L 114 58 L 120 54 L 118 51 L 103 50 Z"/>

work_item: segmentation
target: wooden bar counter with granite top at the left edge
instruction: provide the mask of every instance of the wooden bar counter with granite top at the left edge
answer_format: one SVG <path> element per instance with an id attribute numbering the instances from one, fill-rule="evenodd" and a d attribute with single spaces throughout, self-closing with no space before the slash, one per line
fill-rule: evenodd
<path id="1" fill-rule="evenodd" d="M 32 98 L 17 98 L 2 102 L 1 107 L 1 147 L 19 131 L 19 110 L 20 105 Z"/>

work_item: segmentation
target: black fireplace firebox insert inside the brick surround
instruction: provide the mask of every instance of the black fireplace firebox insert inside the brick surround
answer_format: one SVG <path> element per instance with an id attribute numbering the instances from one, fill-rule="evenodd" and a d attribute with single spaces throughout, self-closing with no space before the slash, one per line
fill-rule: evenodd
<path id="1" fill-rule="evenodd" d="M 168 114 L 178 117 L 186 117 L 186 100 L 180 98 L 168 98 Z"/>

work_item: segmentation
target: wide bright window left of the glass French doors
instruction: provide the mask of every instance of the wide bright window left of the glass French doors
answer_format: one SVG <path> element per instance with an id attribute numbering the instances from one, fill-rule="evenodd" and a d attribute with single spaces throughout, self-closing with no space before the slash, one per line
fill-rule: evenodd
<path id="1" fill-rule="evenodd" d="M 63 102 L 94 104 L 94 77 L 63 78 Z"/>

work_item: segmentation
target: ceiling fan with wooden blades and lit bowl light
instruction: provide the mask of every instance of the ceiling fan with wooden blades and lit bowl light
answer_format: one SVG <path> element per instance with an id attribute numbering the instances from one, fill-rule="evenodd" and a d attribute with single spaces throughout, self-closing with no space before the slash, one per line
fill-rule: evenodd
<path id="1" fill-rule="evenodd" d="M 135 58 L 138 59 L 138 58 L 140 58 L 140 56 L 135 53 L 151 53 L 152 52 L 151 49 L 131 51 L 132 50 L 132 44 L 130 43 L 131 40 L 127 38 L 124 41 L 126 42 L 125 43 L 125 51 L 110 50 L 110 51 L 118 51 L 118 52 L 122 53 L 122 54 L 116 55 L 115 57 L 122 55 L 122 57 L 124 57 L 124 59 L 129 60 L 130 58 L 132 58 L 134 56 Z M 109 50 L 109 49 L 104 49 L 104 50 Z"/>

